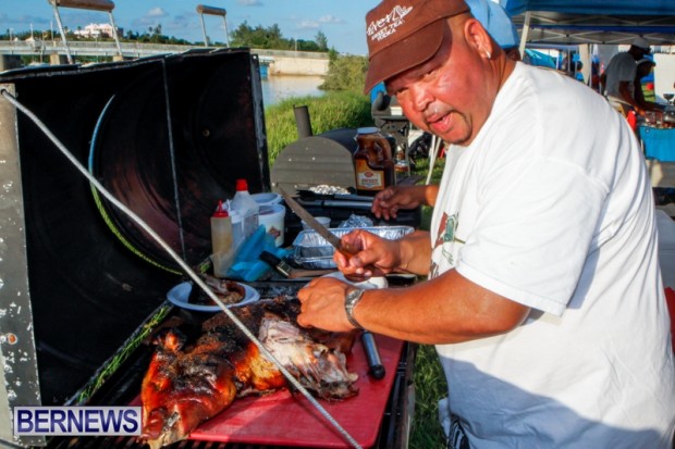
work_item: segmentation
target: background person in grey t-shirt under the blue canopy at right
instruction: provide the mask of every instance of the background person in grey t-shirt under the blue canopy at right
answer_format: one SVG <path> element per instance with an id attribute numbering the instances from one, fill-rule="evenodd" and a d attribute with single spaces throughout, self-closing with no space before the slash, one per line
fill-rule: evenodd
<path id="1" fill-rule="evenodd" d="M 626 52 L 615 54 L 601 75 L 604 95 L 610 104 L 626 115 L 634 110 L 638 115 L 645 115 L 647 109 L 638 104 L 635 99 L 634 83 L 637 75 L 636 62 L 651 52 L 649 42 L 641 37 L 636 38 Z"/>

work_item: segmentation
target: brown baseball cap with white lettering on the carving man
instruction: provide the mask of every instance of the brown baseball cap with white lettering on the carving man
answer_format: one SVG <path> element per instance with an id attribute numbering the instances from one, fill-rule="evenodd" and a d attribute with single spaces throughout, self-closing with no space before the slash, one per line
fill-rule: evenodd
<path id="1" fill-rule="evenodd" d="M 366 15 L 368 73 L 364 92 L 430 60 L 443 41 L 445 20 L 468 12 L 464 0 L 384 0 Z"/>

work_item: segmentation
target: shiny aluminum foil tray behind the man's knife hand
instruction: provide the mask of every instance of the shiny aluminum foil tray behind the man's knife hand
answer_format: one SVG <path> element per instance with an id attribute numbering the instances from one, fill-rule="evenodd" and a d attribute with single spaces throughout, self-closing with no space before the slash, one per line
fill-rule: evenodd
<path id="1" fill-rule="evenodd" d="M 415 230 L 413 226 L 375 226 L 361 227 L 360 229 L 368 230 L 388 240 L 397 240 Z M 338 237 L 342 237 L 354 228 L 339 227 L 330 230 Z M 293 260 L 303 269 L 335 269 L 334 252 L 333 246 L 316 230 L 302 230 L 293 241 Z"/>

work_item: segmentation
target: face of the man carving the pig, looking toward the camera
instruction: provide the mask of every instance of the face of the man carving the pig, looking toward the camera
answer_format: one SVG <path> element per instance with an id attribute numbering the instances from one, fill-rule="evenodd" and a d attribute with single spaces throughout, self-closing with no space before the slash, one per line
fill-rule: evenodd
<path id="1" fill-rule="evenodd" d="M 499 80 L 492 86 L 484 54 L 464 39 L 466 20 L 449 21 L 456 32 L 445 27 L 441 48 L 431 60 L 386 80 L 389 93 L 396 96 L 410 122 L 461 145 L 468 145 L 486 122 L 499 88 Z"/>

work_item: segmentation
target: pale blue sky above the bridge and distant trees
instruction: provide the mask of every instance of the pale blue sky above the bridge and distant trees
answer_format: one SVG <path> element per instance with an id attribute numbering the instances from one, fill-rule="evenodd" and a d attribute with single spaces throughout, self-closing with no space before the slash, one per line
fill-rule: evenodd
<path id="1" fill-rule="evenodd" d="M 144 33 L 162 26 L 162 34 L 204 41 L 198 4 L 221 8 L 230 32 L 244 21 L 249 26 L 278 24 L 285 38 L 314 40 L 318 32 L 328 38 L 329 48 L 341 53 L 367 54 L 365 16 L 377 0 L 113 0 L 115 25 L 124 33 Z M 90 23 L 108 23 L 108 13 L 59 8 L 63 26 L 76 29 Z M 225 41 L 223 20 L 205 15 L 209 40 Z M 0 32 L 5 34 L 34 29 L 58 33 L 49 0 L 0 0 Z"/>

